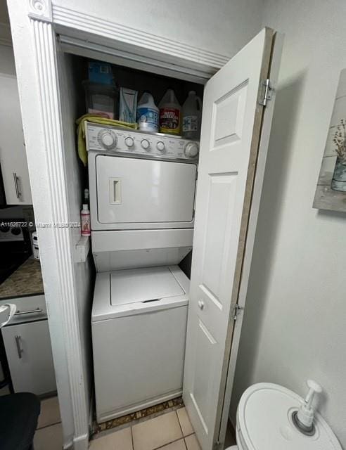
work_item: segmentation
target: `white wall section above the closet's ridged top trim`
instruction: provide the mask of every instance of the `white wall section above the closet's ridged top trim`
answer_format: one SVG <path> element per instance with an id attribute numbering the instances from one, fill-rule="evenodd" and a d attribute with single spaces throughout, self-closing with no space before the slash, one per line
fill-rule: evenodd
<path id="1" fill-rule="evenodd" d="M 233 56 L 259 30 L 263 0 L 54 0 L 53 3 Z"/>

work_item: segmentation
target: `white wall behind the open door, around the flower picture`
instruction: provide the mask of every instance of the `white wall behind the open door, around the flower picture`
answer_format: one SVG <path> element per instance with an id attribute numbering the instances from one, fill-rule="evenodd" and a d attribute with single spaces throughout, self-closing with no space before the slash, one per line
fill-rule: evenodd
<path id="1" fill-rule="evenodd" d="M 346 448 L 346 214 L 312 209 L 340 70 L 343 0 L 267 0 L 286 34 L 231 416 L 248 385 L 325 389 L 321 413 Z"/>

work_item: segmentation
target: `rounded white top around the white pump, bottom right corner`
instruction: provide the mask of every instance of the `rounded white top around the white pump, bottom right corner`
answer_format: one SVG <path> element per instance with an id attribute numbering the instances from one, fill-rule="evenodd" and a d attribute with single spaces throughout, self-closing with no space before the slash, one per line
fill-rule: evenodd
<path id="1" fill-rule="evenodd" d="M 285 387 L 259 383 L 243 393 L 237 422 L 246 450 L 342 450 L 326 421 L 316 413 L 316 432 L 303 435 L 293 424 L 293 411 L 303 399 Z"/>

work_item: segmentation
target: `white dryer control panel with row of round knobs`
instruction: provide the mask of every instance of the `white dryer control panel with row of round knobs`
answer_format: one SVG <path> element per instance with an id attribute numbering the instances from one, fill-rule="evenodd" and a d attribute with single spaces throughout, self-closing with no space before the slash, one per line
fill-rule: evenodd
<path id="1" fill-rule="evenodd" d="M 109 150 L 154 158 L 197 160 L 199 143 L 179 136 L 86 123 L 87 150 Z"/>

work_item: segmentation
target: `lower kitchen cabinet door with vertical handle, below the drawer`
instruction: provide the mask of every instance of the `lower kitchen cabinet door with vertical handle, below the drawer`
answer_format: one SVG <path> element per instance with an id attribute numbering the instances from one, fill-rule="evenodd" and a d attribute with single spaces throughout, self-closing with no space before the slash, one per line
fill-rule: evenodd
<path id="1" fill-rule="evenodd" d="M 6 326 L 1 332 L 15 392 L 56 391 L 48 321 Z"/>

